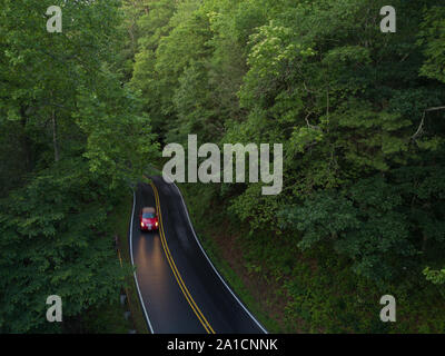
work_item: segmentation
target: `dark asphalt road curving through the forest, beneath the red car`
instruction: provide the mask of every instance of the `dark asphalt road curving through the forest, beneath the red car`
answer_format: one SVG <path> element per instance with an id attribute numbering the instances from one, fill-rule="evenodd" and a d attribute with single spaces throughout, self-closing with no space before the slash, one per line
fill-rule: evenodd
<path id="1" fill-rule="evenodd" d="M 161 177 L 139 184 L 129 233 L 144 313 L 155 334 L 264 334 L 205 254 L 179 189 Z M 142 234 L 139 211 L 156 207 L 159 233 Z"/>

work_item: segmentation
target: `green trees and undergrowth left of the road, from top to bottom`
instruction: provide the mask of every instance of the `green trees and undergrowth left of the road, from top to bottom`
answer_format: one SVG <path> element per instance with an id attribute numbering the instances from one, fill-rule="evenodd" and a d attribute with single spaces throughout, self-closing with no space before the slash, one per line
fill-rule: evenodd
<path id="1" fill-rule="evenodd" d="M 123 332 L 110 217 L 158 145 L 120 70 L 120 1 L 52 1 L 62 33 L 47 1 L 0 3 L 0 333 Z"/>

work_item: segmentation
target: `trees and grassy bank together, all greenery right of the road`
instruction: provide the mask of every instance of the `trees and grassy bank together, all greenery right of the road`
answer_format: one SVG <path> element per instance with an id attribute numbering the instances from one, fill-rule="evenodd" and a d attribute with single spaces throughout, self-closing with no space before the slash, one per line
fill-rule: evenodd
<path id="1" fill-rule="evenodd" d="M 380 32 L 385 1 L 125 4 L 130 87 L 162 144 L 284 145 L 278 196 L 182 186 L 206 248 L 265 325 L 445 332 L 441 2 L 393 1 L 396 33 Z M 394 324 L 379 319 L 387 294 Z"/>

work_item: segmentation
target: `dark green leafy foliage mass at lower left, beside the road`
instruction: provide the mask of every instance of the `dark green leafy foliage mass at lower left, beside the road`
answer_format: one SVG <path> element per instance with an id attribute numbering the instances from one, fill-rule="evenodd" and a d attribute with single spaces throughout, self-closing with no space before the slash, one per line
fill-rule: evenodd
<path id="1" fill-rule="evenodd" d="M 48 329 L 49 295 L 61 296 L 67 318 L 116 297 L 128 270 L 120 267 L 107 230 L 111 206 L 103 201 L 110 194 L 86 162 L 76 160 L 42 171 L 1 202 L 3 333 Z"/>

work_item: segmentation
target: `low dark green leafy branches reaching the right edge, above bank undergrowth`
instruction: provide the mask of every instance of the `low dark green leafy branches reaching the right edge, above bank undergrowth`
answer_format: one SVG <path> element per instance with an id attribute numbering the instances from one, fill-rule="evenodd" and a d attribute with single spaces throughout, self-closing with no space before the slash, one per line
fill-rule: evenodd
<path id="1" fill-rule="evenodd" d="M 418 268 L 422 258 L 433 257 L 427 247 L 444 249 L 442 202 L 433 198 L 443 195 L 436 180 L 441 171 L 399 169 L 340 191 L 318 191 L 303 204 L 283 208 L 280 224 L 303 233 L 303 250 L 328 244 L 350 258 L 358 274 L 394 279 L 406 268 Z"/>

